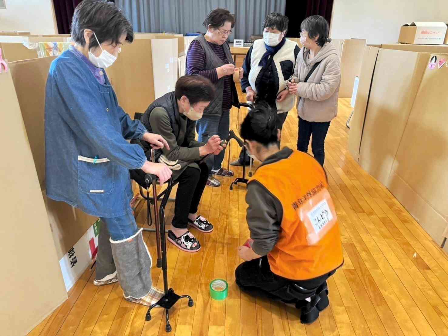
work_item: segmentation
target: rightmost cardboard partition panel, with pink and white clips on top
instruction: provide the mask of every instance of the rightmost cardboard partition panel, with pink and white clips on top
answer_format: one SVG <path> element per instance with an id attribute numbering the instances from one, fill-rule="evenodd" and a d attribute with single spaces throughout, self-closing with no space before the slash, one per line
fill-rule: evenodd
<path id="1" fill-rule="evenodd" d="M 448 237 L 448 67 L 428 68 L 431 56 L 425 57 L 422 82 L 386 186 L 440 244 Z M 435 56 L 448 59 L 447 54 Z"/>

